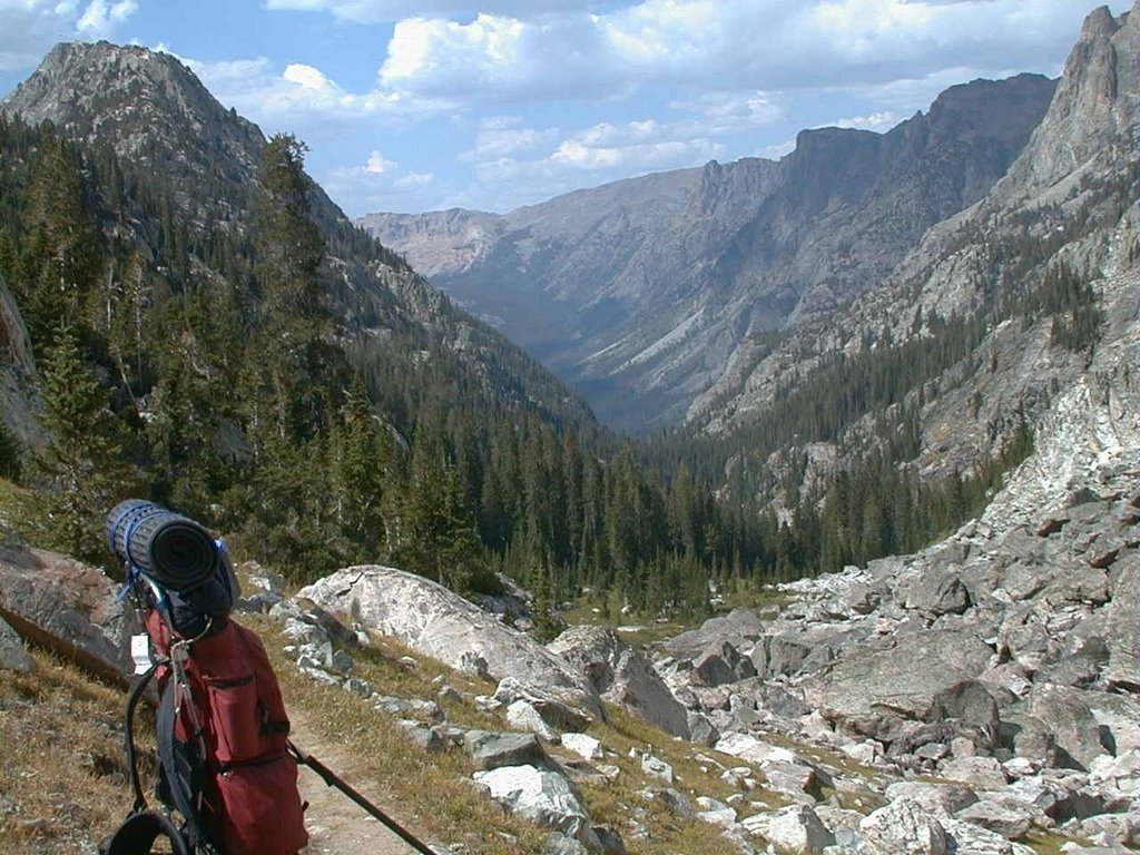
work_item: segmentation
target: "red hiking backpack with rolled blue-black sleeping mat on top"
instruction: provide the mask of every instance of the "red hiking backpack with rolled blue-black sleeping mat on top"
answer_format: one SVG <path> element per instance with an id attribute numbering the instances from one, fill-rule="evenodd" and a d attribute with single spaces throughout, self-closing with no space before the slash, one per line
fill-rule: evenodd
<path id="1" fill-rule="evenodd" d="M 148 853 L 165 836 L 179 855 L 293 855 L 308 833 L 288 716 L 260 638 L 229 619 L 236 580 L 223 545 L 148 502 L 112 511 L 107 534 L 124 562 L 124 593 L 144 620 L 153 665 L 127 706 L 135 807 L 104 852 Z M 182 589 L 165 587 L 174 580 Z M 135 762 L 135 710 L 152 677 L 160 697 L 157 796 L 166 814 L 147 809 Z"/>

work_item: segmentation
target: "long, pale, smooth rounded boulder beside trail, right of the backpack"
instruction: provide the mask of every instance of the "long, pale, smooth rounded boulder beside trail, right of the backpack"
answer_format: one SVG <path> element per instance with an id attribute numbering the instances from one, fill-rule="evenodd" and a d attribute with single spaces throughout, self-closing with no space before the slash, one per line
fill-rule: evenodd
<path id="1" fill-rule="evenodd" d="M 334 613 L 351 616 L 367 629 L 398 638 L 453 668 L 478 657 L 489 676 L 514 677 L 602 719 L 597 692 L 584 674 L 526 633 L 430 579 L 388 567 L 340 570 L 302 588 L 308 598 Z"/>

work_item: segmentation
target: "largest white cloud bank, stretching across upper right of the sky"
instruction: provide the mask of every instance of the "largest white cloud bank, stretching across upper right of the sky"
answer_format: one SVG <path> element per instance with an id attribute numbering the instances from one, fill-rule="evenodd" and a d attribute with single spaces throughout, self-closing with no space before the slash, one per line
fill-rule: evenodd
<path id="1" fill-rule="evenodd" d="M 773 91 L 923 79 L 962 64 L 1042 68 L 1088 0 L 644 0 L 534 19 L 483 11 L 396 24 L 385 88 L 456 103 L 621 97 L 653 84 Z"/>

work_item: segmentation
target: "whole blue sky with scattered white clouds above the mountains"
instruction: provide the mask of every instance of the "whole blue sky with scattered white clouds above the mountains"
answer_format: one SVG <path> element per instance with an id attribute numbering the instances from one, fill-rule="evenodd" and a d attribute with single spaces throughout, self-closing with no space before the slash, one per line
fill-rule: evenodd
<path id="1" fill-rule="evenodd" d="M 310 148 L 344 211 L 504 212 L 885 131 L 948 85 L 1056 76 L 1094 0 L 0 0 L 0 93 L 63 40 L 166 50 Z M 1110 2 L 1119 14 L 1131 2 Z"/>

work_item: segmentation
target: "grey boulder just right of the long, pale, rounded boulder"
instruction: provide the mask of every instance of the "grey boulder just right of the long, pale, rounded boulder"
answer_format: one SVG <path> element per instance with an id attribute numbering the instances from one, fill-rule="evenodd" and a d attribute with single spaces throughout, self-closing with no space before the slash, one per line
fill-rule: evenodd
<path id="1" fill-rule="evenodd" d="M 674 736 L 689 739 L 687 712 L 650 661 L 604 627 L 571 627 L 547 650 L 589 678 L 597 693 L 656 724 Z"/>

